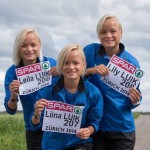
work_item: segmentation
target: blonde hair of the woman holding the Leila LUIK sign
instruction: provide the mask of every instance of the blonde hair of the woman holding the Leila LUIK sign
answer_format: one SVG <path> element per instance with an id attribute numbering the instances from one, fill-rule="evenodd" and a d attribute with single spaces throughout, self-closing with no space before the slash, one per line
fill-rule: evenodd
<path id="1" fill-rule="evenodd" d="M 40 55 L 39 55 L 39 59 L 40 61 L 42 61 L 42 58 L 43 58 L 43 55 L 42 55 L 42 43 L 41 43 L 41 39 L 38 35 L 38 32 L 36 29 L 34 28 L 25 28 L 23 30 L 21 30 L 18 35 L 16 36 L 16 39 L 15 39 L 15 42 L 14 42 L 14 47 L 13 47 L 13 62 L 16 66 L 19 65 L 20 61 L 21 61 L 21 57 L 20 57 L 20 48 L 22 47 L 23 45 L 23 42 L 25 40 L 25 37 L 28 33 L 34 33 L 39 42 L 40 42 L 40 45 L 41 45 L 41 48 L 40 48 Z"/>

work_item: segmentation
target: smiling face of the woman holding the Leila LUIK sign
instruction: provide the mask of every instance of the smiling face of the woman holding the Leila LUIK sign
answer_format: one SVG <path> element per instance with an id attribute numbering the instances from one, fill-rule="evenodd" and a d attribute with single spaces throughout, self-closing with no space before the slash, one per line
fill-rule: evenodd
<path id="1" fill-rule="evenodd" d="M 20 57 L 23 59 L 24 65 L 36 63 L 40 48 L 41 44 L 38 37 L 34 33 L 28 33 L 20 49 Z"/>

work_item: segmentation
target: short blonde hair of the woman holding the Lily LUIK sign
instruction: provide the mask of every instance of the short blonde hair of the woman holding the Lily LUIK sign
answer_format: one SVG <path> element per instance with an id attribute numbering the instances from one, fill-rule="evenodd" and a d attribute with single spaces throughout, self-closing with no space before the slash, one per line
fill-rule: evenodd
<path id="1" fill-rule="evenodd" d="M 99 22 L 98 22 L 98 24 L 97 24 L 96 32 L 97 32 L 98 37 L 100 36 L 99 33 L 100 33 L 100 31 L 102 30 L 103 24 L 104 24 L 104 22 L 105 22 L 107 19 L 115 19 L 115 21 L 118 23 L 119 28 L 120 28 L 120 30 L 121 30 L 121 32 L 122 32 L 122 25 L 121 25 L 119 19 L 118 19 L 116 16 L 114 16 L 114 15 L 107 14 L 107 15 L 104 15 L 104 16 L 99 20 Z M 100 38 L 100 37 L 99 37 L 99 38 Z"/>

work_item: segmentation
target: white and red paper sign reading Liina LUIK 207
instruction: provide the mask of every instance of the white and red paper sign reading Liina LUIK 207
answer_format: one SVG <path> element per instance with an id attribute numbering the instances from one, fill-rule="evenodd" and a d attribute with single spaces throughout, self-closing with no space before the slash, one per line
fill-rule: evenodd
<path id="1" fill-rule="evenodd" d="M 49 101 L 45 107 L 43 131 L 76 134 L 80 129 L 83 106 Z"/>

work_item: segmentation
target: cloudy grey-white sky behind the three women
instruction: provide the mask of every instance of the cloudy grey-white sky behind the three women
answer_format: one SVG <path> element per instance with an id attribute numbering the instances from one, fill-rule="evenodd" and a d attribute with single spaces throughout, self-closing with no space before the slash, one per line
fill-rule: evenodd
<path id="1" fill-rule="evenodd" d="M 35 27 L 43 54 L 57 59 L 69 43 L 82 47 L 99 43 L 96 26 L 106 14 L 116 15 L 123 26 L 121 42 L 140 63 L 142 103 L 134 111 L 150 111 L 150 1 L 149 0 L 0 0 L 0 110 L 4 110 L 4 76 L 12 65 L 16 35 Z M 21 105 L 19 104 L 19 109 Z"/>

